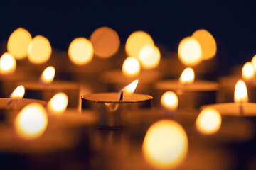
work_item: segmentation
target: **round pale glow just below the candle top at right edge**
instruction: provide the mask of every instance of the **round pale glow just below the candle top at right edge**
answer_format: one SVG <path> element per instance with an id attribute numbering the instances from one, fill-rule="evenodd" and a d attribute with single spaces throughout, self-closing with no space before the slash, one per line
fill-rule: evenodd
<path id="1" fill-rule="evenodd" d="M 206 108 L 201 111 L 196 119 L 196 128 L 203 134 L 213 134 L 220 129 L 221 115 L 213 108 Z"/>

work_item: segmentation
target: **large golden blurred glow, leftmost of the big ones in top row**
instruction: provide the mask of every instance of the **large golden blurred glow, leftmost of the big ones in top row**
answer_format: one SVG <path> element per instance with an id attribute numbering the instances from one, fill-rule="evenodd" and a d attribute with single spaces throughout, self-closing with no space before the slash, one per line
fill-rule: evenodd
<path id="1" fill-rule="evenodd" d="M 28 45 L 32 37 L 28 30 L 18 28 L 11 33 L 7 42 L 7 50 L 16 59 L 23 59 L 28 55 Z"/>

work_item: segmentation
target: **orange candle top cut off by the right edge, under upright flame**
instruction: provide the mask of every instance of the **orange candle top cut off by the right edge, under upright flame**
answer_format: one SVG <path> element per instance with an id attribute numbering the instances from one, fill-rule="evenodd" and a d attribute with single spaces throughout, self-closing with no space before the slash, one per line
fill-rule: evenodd
<path id="1" fill-rule="evenodd" d="M 242 117 L 256 116 L 256 103 L 217 103 L 202 106 L 202 108 L 215 108 L 221 115 Z"/>

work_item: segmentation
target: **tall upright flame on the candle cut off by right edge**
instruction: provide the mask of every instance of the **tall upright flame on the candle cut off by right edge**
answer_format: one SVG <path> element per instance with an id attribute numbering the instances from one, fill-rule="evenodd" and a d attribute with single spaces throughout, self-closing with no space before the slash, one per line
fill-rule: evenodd
<path id="1" fill-rule="evenodd" d="M 245 85 L 245 81 L 238 80 L 237 84 L 235 84 L 234 101 L 235 103 L 248 102 L 248 94 L 247 94 L 247 87 Z"/>

